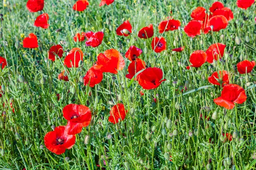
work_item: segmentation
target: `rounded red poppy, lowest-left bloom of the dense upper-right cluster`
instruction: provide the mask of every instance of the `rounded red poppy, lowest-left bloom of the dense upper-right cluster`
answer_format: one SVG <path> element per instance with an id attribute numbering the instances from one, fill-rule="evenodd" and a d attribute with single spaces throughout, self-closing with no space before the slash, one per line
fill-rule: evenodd
<path id="1" fill-rule="evenodd" d="M 201 21 L 192 20 L 184 27 L 184 31 L 189 37 L 194 38 L 196 35 L 201 34 L 201 28 Z"/>

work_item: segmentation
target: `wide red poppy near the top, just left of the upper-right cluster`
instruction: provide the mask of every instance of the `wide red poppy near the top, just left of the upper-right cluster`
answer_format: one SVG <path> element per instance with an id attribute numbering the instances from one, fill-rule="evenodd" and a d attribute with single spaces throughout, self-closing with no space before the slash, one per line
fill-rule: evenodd
<path id="1" fill-rule="evenodd" d="M 179 20 L 166 20 L 162 21 L 158 25 L 159 33 L 162 34 L 164 31 L 173 31 L 178 29 L 180 26 Z"/>

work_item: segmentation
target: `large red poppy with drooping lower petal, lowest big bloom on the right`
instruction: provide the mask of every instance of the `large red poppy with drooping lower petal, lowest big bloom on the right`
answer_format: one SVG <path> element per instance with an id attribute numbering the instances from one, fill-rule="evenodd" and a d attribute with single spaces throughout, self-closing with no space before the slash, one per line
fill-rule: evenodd
<path id="1" fill-rule="evenodd" d="M 221 96 L 213 101 L 224 108 L 233 109 L 235 103 L 242 104 L 247 99 L 244 89 L 239 85 L 225 85 L 221 91 Z"/>

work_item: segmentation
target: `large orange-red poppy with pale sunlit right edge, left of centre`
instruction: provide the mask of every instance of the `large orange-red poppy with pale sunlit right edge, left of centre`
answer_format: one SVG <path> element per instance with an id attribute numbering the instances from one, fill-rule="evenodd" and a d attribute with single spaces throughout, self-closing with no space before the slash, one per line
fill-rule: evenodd
<path id="1" fill-rule="evenodd" d="M 125 60 L 117 50 L 110 49 L 98 55 L 95 67 L 105 73 L 117 74 L 125 67 Z"/>

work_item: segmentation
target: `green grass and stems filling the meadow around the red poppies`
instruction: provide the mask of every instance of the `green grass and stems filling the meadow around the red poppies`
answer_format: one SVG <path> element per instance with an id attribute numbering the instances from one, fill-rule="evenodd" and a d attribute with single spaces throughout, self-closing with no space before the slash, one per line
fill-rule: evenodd
<path id="1" fill-rule="evenodd" d="M 243 10 L 236 6 L 235 0 L 221 0 L 234 13 L 234 19 L 226 29 L 201 34 L 192 40 L 182 30 L 165 32 L 167 50 L 160 54 L 151 51 L 151 39 L 137 37 L 140 28 L 150 23 L 154 25 L 155 36 L 160 37 L 157 26 L 169 16 L 170 5 L 172 16 L 184 27 L 191 20 L 193 9 L 198 6 L 209 9 L 213 2 L 115 0 L 110 6 L 99 7 L 100 0 L 89 0 L 90 5 L 84 12 L 76 12 L 72 9 L 74 0 L 45 0 L 49 29 L 33 26 L 41 12 L 30 13 L 26 9 L 26 0 L 0 2 L 4 19 L 0 56 L 6 54 L 8 60 L 8 67 L 0 69 L 0 85 L 5 87 L 5 94 L 0 98 L 0 114 L 6 112 L 0 116 L 0 170 L 100 169 L 96 164 L 109 170 L 205 170 L 207 164 L 214 170 L 255 169 L 255 68 L 247 75 L 239 74 L 236 69 L 241 60 L 256 59 L 255 5 Z M 111 25 L 106 24 L 107 19 Z M 115 30 L 125 20 L 130 20 L 133 34 L 119 37 Z M 55 32 L 58 28 L 62 31 Z M 99 47 L 74 42 L 76 33 L 94 30 L 105 34 Z M 22 47 L 23 36 L 31 32 L 38 36 L 39 48 Z M 239 45 L 235 37 L 241 38 Z M 195 50 L 207 50 L 215 43 L 213 38 L 227 45 L 225 52 L 231 57 L 224 57 L 225 62 L 205 63 L 201 68 L 186 70 L 190 54 Z M 17 40 L 21 42 L 20 48 L 15 48 Z M 65 51 L 78 47 L 84 52 L 84 65 L 79 70 L 70 70 L 69 82 L 58 80 L 58 74 L 64 70 L 61 63 L 64 57 L 55 62 L 45 59 L 49 47 L 59 43 Z M 140 58 L 148 66 L 163 70 L 163 78 L 167 81 L 159 88 L 146 91 L 135 81 L 128 86 L 130 80 L 125 78 L 128 59 L 125 59 L 126 66 L 122 71 L 116 75 L 105 73 L 102 82 L 94 88 L 79 81 L 99 53 L 115 48 L 125 54 L 131 45 L 143 50 Z M 171 51 L 181 45 L 185 46 L 183 52 Z M 221 88 L 212 86 L 207 80 L 212 72 L 222 69 L 230 73 L 230 83 L 239 84 L 246 90 L 247 101 L 233 110 L 213 102 L 220 96 Z M 20 76 L 24 81 L 18 81 Z M 185 83 L 189 93 L 181 95 Z M 75 92 L 72 94 L 69 90 L 73 87 Z M 141 90 L 144 96 L 140 96 Z M 59 101 L 56 94 L 60 94 Z M 11 102 L 15 113 L 12 113 Z M 124 103 L 128 114 L 124 121 L 113 125 L 108 122 L 109 111 L 118 102 Z M 93 122 L 76 135 L 72 149 L 58 156 L 44 147 L 44 135 L 52 130 L 52 125 L 66 125 L 62 109 L 70 103 L 88 106 Z M 217 113 L 216 119 L 212 119 L 213 113 Z M 201 114 L 209 121 L 202 119 Z M 237 137 L 231 142 L 220 139 L 221 133 L 234 132 Z M 90 138 L 85 144 L 87 135 Z M 165 158 L 169 155 L 172 161 Z"/>

